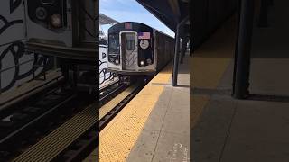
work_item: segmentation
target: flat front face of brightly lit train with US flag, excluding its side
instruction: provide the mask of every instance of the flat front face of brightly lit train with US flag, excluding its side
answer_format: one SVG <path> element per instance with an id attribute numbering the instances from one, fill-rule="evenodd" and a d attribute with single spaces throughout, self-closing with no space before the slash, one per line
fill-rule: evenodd
<path id="1" fill-rule="evenodd" d="M 133 22 L 109 28 L 107 69 L 123 76 L 154 75 L 154 29 Z"/>

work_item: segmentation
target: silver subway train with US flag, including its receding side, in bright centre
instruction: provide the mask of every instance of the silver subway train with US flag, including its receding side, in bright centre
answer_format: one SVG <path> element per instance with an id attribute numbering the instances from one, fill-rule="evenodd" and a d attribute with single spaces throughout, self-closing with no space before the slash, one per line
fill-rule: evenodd
<path id="1" fill-rule="evenodd" d="M 144 23 L 117 23 L 107 33 L 107 70 L 118 76 L 154 76 L 173 58 L 174 39 Z"/>

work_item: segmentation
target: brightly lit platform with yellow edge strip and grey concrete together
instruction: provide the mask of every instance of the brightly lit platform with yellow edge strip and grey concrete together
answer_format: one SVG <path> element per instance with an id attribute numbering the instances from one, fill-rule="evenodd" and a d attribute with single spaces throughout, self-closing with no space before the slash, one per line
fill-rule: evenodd
<path id="1" fill-rule="evenodd" d="M 190 161 L 190 71 L 184 60 L 179 86 L 171 85 L 171 62 L 101 130 L 99 161 Z"/>

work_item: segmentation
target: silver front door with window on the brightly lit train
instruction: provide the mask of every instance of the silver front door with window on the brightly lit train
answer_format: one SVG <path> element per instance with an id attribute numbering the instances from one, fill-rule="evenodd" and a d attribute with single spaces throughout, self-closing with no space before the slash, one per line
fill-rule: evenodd
<path id="1" fill-rule="evenodd" d="M 132 31 L 120 32 L 120 56 L 124 70 L 137 69 L 137 33 Z"/>

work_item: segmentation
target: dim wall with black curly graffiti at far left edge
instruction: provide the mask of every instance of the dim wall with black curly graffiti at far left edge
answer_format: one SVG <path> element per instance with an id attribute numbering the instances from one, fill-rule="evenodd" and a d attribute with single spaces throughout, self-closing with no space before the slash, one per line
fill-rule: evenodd
<path id="1" fill-rule="evenodd" d="M 0 92 L 31 79 L 33 71 L 36 71 L 36 75 L 42 71 L 39 65 L 42 65 L 44 58 L 34 59 L 33 54 L 25 53 L 24 34 L 14 33 L 24 33 L 22 2 L 10 0 L 0 6 L 2 11 L 8 9 L 7 12 L 0 13 Z"/>

